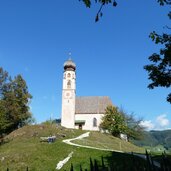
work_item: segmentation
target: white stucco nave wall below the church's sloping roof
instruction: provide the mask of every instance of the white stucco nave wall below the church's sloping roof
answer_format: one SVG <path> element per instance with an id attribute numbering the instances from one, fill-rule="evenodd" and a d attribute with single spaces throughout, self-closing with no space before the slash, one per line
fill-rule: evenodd
<path id="1" fill-rule="evenodd" d="M 75 120 L 85 120 L 85 125 L 82 126 L 83 130 L 99 131 L 99 125 L 103 115 L 104 114 L 75 114 Z M 93 126 L 94 118 L 97 119 L 97 127 Z M 78 129 L 79 126 L 76 125 L 75 128 Z"/>

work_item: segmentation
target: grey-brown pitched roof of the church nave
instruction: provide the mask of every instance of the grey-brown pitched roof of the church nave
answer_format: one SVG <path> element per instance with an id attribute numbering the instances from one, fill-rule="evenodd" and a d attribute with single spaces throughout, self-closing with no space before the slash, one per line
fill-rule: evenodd
<path id="1" fill-rule="evenodd" d="M 112 101 L 108 96 L 76 97 L 75 114 L 104 114 Z"/>

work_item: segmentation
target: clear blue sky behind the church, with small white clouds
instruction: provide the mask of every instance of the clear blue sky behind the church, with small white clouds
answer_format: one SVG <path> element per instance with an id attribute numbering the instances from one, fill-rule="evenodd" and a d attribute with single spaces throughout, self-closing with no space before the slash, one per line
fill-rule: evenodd
<path id="1" fill-rule="evenodd" d="M 167 31 L 167 7 L 156 0 L 118 0 L 94 22 L 98 5 L 78 0 L 0 1 L 0 66 L 22 74 L 40 123 L 60 118 L 63 63 L 72 53 L 77 96 L 107 95 L 113 104 L 143 118 L 150 129 L 171 128 L 170 89 L 149 90 L 143 66 L 159 47 L 149 33 Z"/>

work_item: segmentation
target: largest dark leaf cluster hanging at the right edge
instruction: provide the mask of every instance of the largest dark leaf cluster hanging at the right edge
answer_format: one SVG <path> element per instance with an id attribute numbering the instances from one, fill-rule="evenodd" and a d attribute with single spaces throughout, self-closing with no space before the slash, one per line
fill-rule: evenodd
<path id="1" fill-rule="evenodd" d="M 144 66 L 148 72 L 148 78 L 152 81 L 148 88 L 171 86 L 171 35 L 159 35 L 152 32 L 150 37 L 156 44 L 162 44 L 164 47 L 160 49 L 160 53 L 153 53 L 149 60 L 152 64 Z M 171 103 L 171 93 L 167 96 L 167 101 Z"/>

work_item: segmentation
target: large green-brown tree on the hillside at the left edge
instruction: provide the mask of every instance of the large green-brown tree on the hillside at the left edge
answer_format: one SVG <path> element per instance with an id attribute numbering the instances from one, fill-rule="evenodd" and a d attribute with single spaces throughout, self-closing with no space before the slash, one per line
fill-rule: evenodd
<path id="1" fill-rule="evenodd" d="M 21 75 L 12 79 L 0 68 L 0 136 L 27 123 L 31 118 L 28 105 L 31 98 Z"/>

